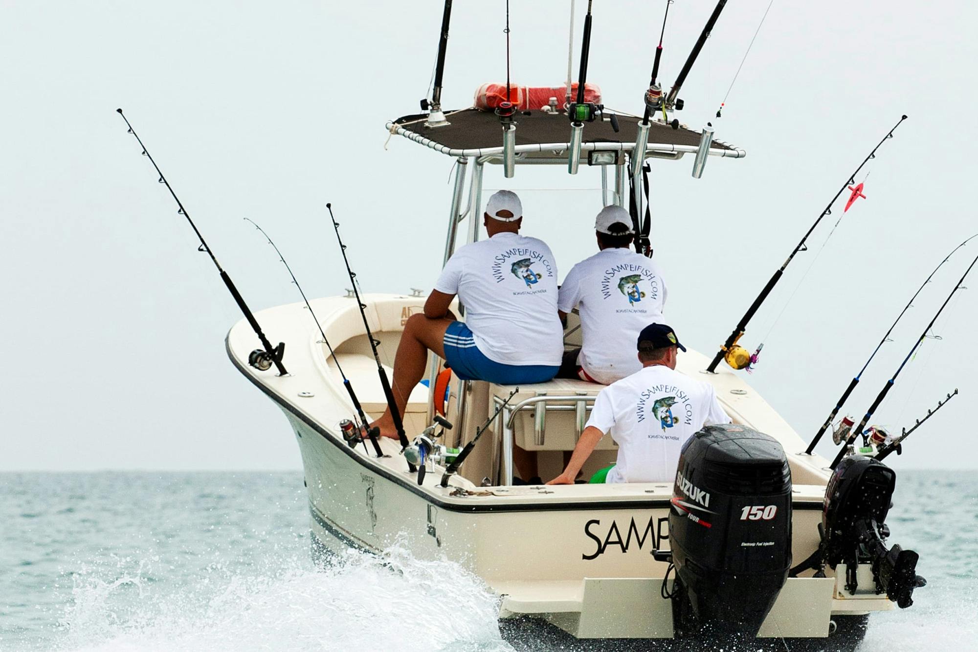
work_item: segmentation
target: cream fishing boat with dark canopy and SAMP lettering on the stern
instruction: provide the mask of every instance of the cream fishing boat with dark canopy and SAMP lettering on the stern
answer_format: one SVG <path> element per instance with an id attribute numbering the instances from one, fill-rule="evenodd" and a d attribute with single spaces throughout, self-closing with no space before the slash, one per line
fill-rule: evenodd
<path id="1" fill-rule="evenodd" d="M 631 210 L 636 231 L 647 235 L 645 163 L 681 162 L 689 154 L 699 177 L 711 158 L 744 157 L 712 128 L 691 130 L 675 115 L 682 80 L 723 6 L 721 0 L 668 94 L 655 83 L 656 56 L 640 117 L 613 114 L 586 96 L 594 90 L 585 79 L 590 7 L 576 87 L 569 78 L 556 89 L 508 80 L 506 101 L 489 107 L 495 111 L 442 111 L 446 2 L 431 102 L 422 103 L 422 114 L 386 125 L 392 136 L 455 164 L 443 259 L 480 237 L 487 170 L 510 177 L 516 168 L 532 175 L 540 165 L 571 173 L 597 166 L 602 201 Z M 481 93 L 483 100 L 491 94 L 485 87 Z M 167 183 L 161 172 L 160 181 Z M 336 231 L 338 237 L 338 225 Z M 650 255 L 647 240 L 637 238 L 637 247 Z M 501 598 L 501 619 L 538 619 L 579 638 L 845 632 L 855 641 L 867 614 L 909 606 L 923 582 L 914 573 L 916 554 L 886 543 L 895 475 L 875 457 L 885 457 L 892 442 L 856 447 L 863 423 L 845 442 L 846 432 L 834 433 L 842 452 L 829 461 L 736 373 L 750 362 L 736 341 L 791 257 L 712 360 L 693 350 L 679 357 L 677 369 L 712 385 L 733 424 L 690 438 L 675 478 L 661 483 L 516 484 L 514 447 L 536 456 L 542 477 L 556 477 L 602 386 L 464 381 L 440 371 L 433 357 L 428 383 L 413 390 L 401 414 L 400 441 L 364 439 L 366 423 L 391 404 L 393 352 L 408 319 L 422 311 L 422 292 L 360 295 L 351 273 L 348 296 L 252 315 L 222 269 L 246 317 L 228 333 L 227 352 L 289 420 L 317 552 L 383 554 L 400 541 L 419 558 L 449 559 L 481 578 Z M 465 314 L 464 306 L 456 311 Z M 281 344 L 273 348 L 265 333 Z M 580 346 L 579 338 L 572 314 L 564 344 Z M 724 359 L 729 364 L 718 366 Z M 584 477 L 616 454 L 605 437 Z"/>

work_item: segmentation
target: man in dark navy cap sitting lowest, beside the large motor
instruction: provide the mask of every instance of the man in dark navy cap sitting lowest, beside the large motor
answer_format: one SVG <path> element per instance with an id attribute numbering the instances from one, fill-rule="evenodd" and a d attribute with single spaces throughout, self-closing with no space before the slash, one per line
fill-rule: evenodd
<path id="1" fill-rule="evenodd" d="M 731 423 L 712 385 L 676 371 L 676 356 L 686 347 L 672 328 L 649 324 L 638 340 L 642 370 L 601 390 L 567 468 L 548 485 L 574 484 L 608 432 L 618 443 L 618 459 L 592 483 L 672 481 L 689 437 L 704 425 Z"/>

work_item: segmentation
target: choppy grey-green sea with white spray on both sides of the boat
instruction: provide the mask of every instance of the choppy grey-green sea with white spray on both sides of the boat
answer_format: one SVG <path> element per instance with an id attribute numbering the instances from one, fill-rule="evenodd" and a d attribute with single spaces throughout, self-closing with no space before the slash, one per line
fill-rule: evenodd
<path id="1" fill-rule="evenodd" d="M 978 650 L 978 473 L 898 473 L 891 542 L 929 584 L 860 649 Z M 299 473 L 0 474 L 0 650 L 559 646 L 504 641 L 478 578 L 400 545 L 315 568 L 306 505 Z"/>

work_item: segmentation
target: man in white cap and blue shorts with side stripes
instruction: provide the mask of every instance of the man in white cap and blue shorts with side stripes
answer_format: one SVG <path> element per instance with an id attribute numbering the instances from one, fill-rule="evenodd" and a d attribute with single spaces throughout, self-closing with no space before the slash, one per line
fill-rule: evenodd
<path id="1" fill-rule="evenodd" d="M 394 358 L 394 397 L 402 413 L 422 380 L 428 350 L 463 380 L 522 385 L 556 375 L 563 352 L 556 261 L 546 243 L 519 235 L 522 222 L 515 193 L 501 190 L 490 197 L 483 215 L 489 238 L 449 258 L 424 314 L 408 319 Z M 465 322 L 448 309 L 456 295 L 466 306 Z M 372 425 L 383 436 L 397 437 L 389 411 Z M 536 475 L 518 457 L 516 466 L 524 480 Z"/>

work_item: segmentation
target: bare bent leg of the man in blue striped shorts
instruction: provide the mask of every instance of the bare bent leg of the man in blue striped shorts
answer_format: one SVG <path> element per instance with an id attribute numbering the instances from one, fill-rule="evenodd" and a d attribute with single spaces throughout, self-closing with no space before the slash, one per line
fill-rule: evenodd
<path id="1" fill-rule="evenodd" d="M 442 341 L 445 338 L 445 330 L 452 321 L 448 318 L 428 319 L 423 314 L 414 314 L 404 325 L 401 343 L 397 346 L 397 354 L 394 356 L 394 382 L 391 385 L 394 402 L 402 416 L 411 391 L 424 376 L 427 352 L 433 351 L 444 359 L 445 349 Z M 397 431 L 394 430 L 394 420 L 390 416 L 389 407 L 384 410 L 383 416 L 371 424 L 371 427 L 374 426 L 380 429 L 381 436 L 397 439 Z"/>

